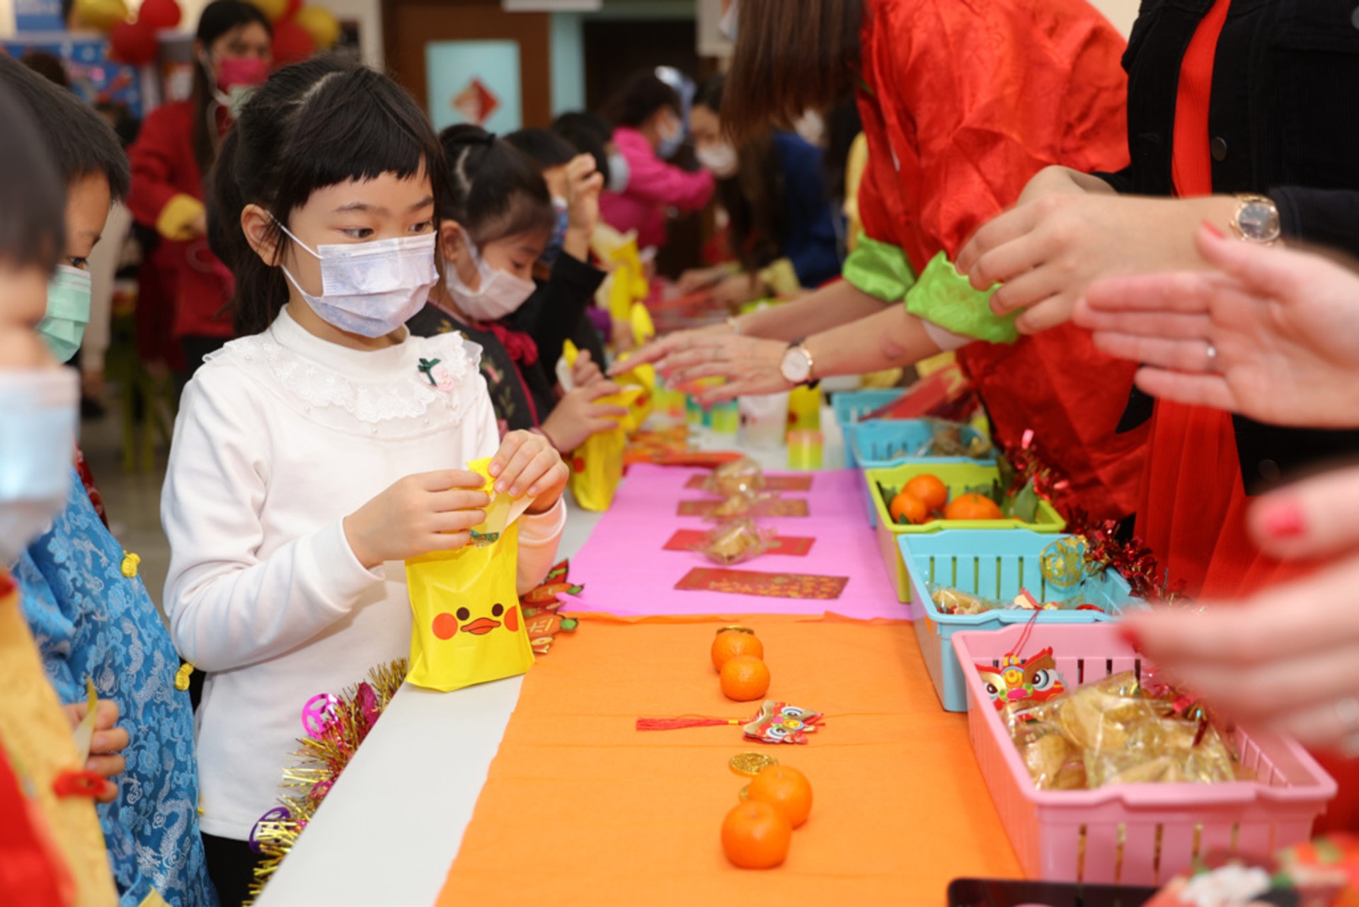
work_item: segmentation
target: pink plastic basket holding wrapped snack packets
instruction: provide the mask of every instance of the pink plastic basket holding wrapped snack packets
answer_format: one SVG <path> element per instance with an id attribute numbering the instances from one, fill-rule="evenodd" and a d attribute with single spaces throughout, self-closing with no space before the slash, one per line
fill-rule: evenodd
<path id="1" fill-rule="evenodd" d="M 1241 761 L 1258 781 L 1037 790 L 980 674 L 968 669 L 999 664 L 1023 632 L 958 632 L 953 646 L 968 681 L 972 748 L 1026 876 L 1158 885 L 1200 854 L 1268 855 L 1310 838 L 1336 782 L 1301 745 L 1273 733 L 1235 732 Z M 1048 646 L 1068 688 L 1142 670 L 1114 624 L 1036 624 L 1025 650 Z"/>

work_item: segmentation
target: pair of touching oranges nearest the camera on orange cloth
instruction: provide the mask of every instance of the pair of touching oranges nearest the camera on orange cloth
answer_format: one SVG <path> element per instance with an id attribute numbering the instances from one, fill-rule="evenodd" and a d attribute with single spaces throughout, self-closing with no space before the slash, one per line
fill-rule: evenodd
<path id="1" fill-rule="evenodd" d="M 769 766 L 722 821 L 722 851 L 742 869 L 772 869 L 788 857 L 792 829 L 811 815 L 811 782 L 796 768 Z"/>

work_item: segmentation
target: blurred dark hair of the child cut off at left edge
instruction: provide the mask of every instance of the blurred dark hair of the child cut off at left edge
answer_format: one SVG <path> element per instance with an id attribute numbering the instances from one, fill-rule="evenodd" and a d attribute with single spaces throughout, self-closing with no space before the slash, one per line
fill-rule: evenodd
<path id="1" fill-rule="evenodd" d="M 52 273 L 67 249 L 67 193 L 35 118 L 0 82 L 0 267 Z"/>

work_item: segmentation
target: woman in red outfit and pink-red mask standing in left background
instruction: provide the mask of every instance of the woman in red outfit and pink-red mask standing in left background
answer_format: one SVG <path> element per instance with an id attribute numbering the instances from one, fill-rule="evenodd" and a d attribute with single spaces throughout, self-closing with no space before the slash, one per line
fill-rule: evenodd
<path id="1" fill-rule="evenodd" d="M 173 335 L 185 359 L 181 385 L 232 336 L 232 279 L 208 249 L 202 178 L 235 109 L 269 78 L 272 37 L 269 20 L 245 0 L 204 7 L 193 42 L 193 95 L 151 112 L 130 150 L 128 207 L 160 237 L 147 265 L 173 299 Z"/>

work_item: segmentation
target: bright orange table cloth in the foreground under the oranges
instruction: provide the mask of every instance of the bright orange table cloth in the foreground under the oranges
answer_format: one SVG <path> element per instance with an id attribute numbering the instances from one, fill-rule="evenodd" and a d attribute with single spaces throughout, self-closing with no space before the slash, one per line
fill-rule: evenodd
<path id="1" fill-rule="evenodd" d="M 909 621 L 752 615 L 769 698 L 826 713 L 807 745 L 639 717 L 745 717 L 708 658 L 731 619 L 584 616 L 529 672 L 439 896 L 454 904 L 940 904 L 958 876 L 1021 877 L 968 741 Z M 761 749 L 802 770 L 811 819 L 773 870 L 733 868 L 719 828 Z"/>

